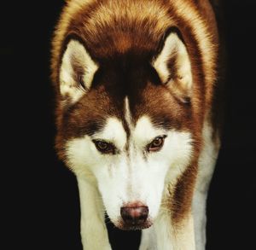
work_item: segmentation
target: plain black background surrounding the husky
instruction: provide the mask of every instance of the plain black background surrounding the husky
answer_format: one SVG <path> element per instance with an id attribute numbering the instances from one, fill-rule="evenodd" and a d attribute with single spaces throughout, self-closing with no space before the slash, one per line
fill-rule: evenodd
<path id="1" fill-rule="evenodd" d="M 1 3 L 3 249 L 82 249 L 76 181 L 53 148 L 49 49 L 61 6 Z M 224 1 L 227 111 L 207 203 L 208 250 L 256 249 L 255 9 L 253 0 Z M 116 230 L 110 238 L 113 249 L 137 249 L 137 234 Z"/>

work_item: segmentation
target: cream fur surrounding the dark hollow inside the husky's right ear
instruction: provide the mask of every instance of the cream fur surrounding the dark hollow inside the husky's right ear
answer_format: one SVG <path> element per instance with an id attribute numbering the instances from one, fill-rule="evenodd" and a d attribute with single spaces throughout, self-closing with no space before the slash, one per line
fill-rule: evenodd
<path id="1" fill-rule="evenodd" d="M 166 38 L 160 55 L 153 61 L 153 66 L 159 73 L 163 83 L 166 83 L 168 78 L 172 76 L 172 72 L 167 67 L 167 63 L 172 57 L 176 59 L 177 76 L 182 82 L 183 88 L 190 90 L 192 87 L 192 73 L 189 54 L 183 42 L 173 32 Z M 168 84 L 172 84 L 174 80 L 171 78 Z"/>

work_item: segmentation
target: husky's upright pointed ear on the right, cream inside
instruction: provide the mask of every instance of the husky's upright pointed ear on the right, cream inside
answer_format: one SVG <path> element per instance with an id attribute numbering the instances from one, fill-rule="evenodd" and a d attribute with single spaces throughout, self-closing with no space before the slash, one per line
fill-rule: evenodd
<path id="1" fill-rule="evenodd" d="M 189 102 L 192 73 L 188 51 L 176 32 L 165 39 L 160 53 L 152 62 L 163 84 L 182 102 Z"/>

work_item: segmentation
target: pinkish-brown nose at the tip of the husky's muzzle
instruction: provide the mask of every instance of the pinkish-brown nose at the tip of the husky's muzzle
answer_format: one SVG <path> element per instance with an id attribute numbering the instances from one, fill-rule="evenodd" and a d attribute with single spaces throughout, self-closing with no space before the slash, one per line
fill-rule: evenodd
<path id="1" fill-rule="evenodd" d="M 123 206 L 121 216 L 126 225 L 142 225 L 148 218 L 148 206 Z"/>

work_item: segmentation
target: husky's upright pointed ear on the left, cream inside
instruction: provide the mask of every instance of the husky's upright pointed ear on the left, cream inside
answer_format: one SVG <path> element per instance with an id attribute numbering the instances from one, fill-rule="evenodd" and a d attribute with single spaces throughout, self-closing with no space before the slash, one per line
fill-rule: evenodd
<path id="1" fill-rule="evenodd" d="M 67 44 L 60 68 L 60 91 L 64 100 L 76 102 L 90 89 L 98 66 L 77 40 Z"/>

